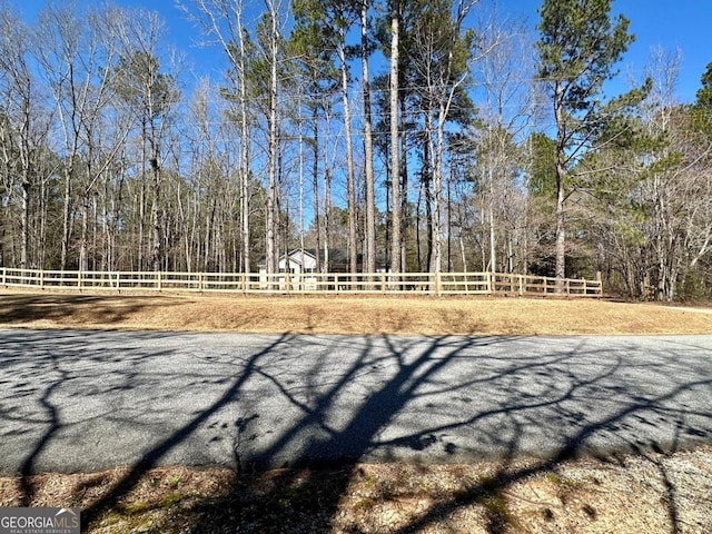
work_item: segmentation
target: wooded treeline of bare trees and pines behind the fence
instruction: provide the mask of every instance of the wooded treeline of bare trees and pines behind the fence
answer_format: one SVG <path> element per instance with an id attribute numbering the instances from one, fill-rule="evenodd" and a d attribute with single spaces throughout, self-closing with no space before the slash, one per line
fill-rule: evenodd
<path id="1" fill-rule="evenodd" d="M 536 32 L 477 0 L 185 0 L 227 65 L 191 80 L 151 11 L 0 3 L 0 266 L 603 274 L 712 296 L 712 63 L 640 79 L 611 0 Z M 627 89 L 613 89 L 620 87 Z"/>

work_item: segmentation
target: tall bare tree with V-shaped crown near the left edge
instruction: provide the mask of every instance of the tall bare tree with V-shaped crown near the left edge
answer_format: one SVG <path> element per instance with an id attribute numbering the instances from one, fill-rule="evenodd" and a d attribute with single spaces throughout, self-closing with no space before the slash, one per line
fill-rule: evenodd
<path id="1" fill-rule="evenodd" d="M 108 165 L 107 158 L 101 162 L 97 158 L 96 130 L 110 103 L 109 79 L 117 57 L 115 29 L 119 17 L 118 11 L 107 8 L 79 18 L 68 6 L 48 6 L 38 17 L 36 39 L 42 43 L 38 47 L 39 65 L 55 100 L 65 159 L 61 269 L 69 261 L 72 206 L 77 202 L 81 212 L 78 266 L 88 266 L 90 195 Z"/>

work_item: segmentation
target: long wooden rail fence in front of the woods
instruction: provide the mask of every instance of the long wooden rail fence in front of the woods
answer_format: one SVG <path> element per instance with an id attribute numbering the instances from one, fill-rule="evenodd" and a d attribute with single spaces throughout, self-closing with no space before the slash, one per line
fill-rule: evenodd
<path id="1" fill-rule="evenodd" d="M 517 295 L 600 297 L 601 280 L 501 273 L 160 273 L 0 268 L 0 286 L 234 294 Z"/>

